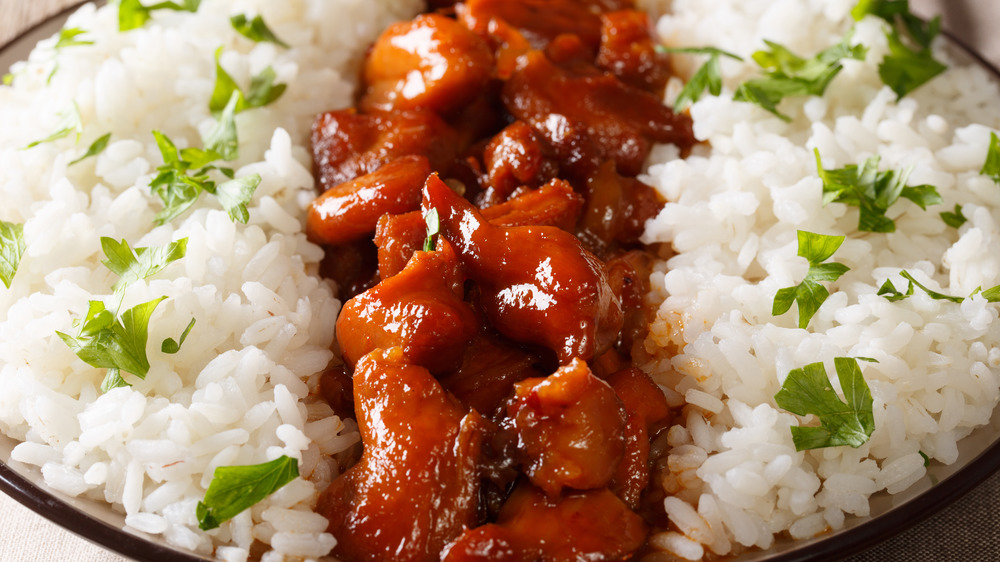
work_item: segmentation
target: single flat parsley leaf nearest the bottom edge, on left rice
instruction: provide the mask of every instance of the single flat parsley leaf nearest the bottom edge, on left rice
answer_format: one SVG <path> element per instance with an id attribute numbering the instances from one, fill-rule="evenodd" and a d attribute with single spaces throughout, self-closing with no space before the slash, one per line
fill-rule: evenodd
<path id="1" fill-rule="evenodd" d="M 285 455 L 263 464 L 216 468 L 195 510 L 198 528 L 217 528 L 298 477 L 299 462 Z"/>

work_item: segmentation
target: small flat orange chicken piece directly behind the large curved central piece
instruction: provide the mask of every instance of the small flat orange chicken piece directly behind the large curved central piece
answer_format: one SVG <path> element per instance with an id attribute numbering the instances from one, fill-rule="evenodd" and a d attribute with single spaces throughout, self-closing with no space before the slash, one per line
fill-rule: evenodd
<path id="1" fill-rule="evenodd" d="M 497 226 L 554 226 L 572 232 L 582 210 L 583 196 L 565 181 L 554 179 L 482 213 Z"/>

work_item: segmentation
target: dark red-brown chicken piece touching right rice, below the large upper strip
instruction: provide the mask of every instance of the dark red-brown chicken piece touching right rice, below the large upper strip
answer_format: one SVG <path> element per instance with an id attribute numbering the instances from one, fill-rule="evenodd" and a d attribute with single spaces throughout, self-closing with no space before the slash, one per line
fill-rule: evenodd
<path id="1" fill-rule="evenodd" d="M 619 245 L 634 246 L 666 202 L 652 187 L 624 177 L 614 162 L 605 162 L 587 179 L 587 207 L 580 218 L 579 236 L 598 256 Z"/>

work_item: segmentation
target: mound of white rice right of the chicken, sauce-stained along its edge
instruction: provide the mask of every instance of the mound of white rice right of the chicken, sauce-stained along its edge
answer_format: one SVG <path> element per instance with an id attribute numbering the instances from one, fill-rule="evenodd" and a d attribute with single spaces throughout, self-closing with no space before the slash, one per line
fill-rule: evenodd
<path id="1" fill-rule="evenodd" d="M 897 102 L 877 71 L 884 23 L 869 17 L 853 38 L 870 47 L 867 59 L 845 61 L 823 97 L 783 102 L 792 122 L 732 101 L 735 86 L 758 74 L 749 57 L 764 39 L 812 56 L 843 37 L 854 4 L 675 0 L 658 23 L 669 45 L 712 45 L 747 61 L 723 58 L 722 95 L 691 108 L 695 134 L 711 148 L 685 160 L 663 148 L 645 178 L 669 201 L 645 240 L 676 251 L 653 276 L 659 308 L 646 368 L 674 404 L 687 404 L 668 434 L 674 525 L 652 543 L 680 558 L 839 529 L 869 513 L 875 492 L 923 477 L 921 452 L 954 462 L 957 442 L 987 423 L 1000 398 L 996 305 L 932 300 L 920 289 L 895 303 L 876 295 L 886 279 L 905 291 L 901 269 L 950 295 L 1000 284 L 1000 186 L 979 173 L 1000 128 L 996 81 L 957 65 L 939 41 L 935 54 L 949 70 Z M 704 57 L 675 60 L 693 72 Z M 872 155 L 882 170 L 913 166 L 908 185 L 932 184 L 944 203 L 923 211 L 900 199 L 889 212 L 896 232 L 858 232 L 857 208 L 822 205 L 814 148 L 827 169 Z M 968 218 L 957 230 L 939 216 L 956 203 Z M 807 330 L 797 328 L 796 307 L 771 315 L 775 293 L 808 268 L 796 255 L 799 229 L 846 235 L 831 261 L 851 268 L 824 283 L 831 296 Z M 796 452 L 789 427 L 816 420 L 777 408 L 773 396 L 789 371 L 817 361 L 839 392 L 838 356 L 878 360 L 861 363 L 875 432 L 857 449 Z"/>

